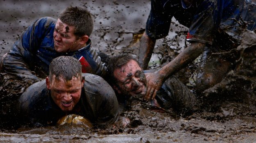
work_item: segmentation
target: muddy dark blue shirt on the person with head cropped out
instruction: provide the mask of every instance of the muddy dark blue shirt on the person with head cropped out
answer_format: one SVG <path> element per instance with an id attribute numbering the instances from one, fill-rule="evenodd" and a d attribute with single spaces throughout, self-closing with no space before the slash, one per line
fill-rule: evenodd
<path id="1" fill-rule="evenodd" d="M 256 29 L 256 4 L 251 0 L 194 1 L 186 6 L 183 0 L 152 0 L 146 34 L 153 39 L 167 36 L 172 17 L 189 27 L 188 41 L 210 45 L 224 37 L 239 42 L 246 22 L 248 30 Z"/>

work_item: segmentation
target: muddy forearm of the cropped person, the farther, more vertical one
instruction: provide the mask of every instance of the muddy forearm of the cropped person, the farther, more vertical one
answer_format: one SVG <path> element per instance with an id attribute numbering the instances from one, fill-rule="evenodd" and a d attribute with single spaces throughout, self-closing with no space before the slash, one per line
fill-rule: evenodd
<path id="1" fill-rule="evenodd" d="M 156 40 L 148 37 L 146 33 L 144 33 L 140 39 L 138 62 L 140 66 L 143 68 L 143 70 L 147 69 L 147 65 L 152 56 L 155 44 L 156 44 Z"/>

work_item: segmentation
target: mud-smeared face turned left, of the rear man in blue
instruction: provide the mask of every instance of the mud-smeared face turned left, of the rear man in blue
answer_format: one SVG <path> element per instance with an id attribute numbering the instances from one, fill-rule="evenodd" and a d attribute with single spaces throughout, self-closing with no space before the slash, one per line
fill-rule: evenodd
<path id="1" fill-rule="evenodd" d="M 81 39 L 77 39 L 74 33 L 75 26 L 69 26 L 58 19 L 53 33 L 55 51 L 64 53 L 82 48 L 84 45 L 80 44 Z"/>

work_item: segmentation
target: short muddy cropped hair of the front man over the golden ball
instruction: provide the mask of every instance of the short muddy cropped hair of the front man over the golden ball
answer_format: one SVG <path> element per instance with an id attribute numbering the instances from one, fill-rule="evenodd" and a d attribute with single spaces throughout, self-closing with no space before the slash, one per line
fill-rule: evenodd
<path id="1" fill-rule="evenodd" d="M 77 77 L 82 80 L 82 65 L 74 57 L 60 56 L 52 60 L 50 64 L 50 80 L 52 76 L 56 78 L 63 77 L 64 79 L 71 80 L 72 77 Z"/>

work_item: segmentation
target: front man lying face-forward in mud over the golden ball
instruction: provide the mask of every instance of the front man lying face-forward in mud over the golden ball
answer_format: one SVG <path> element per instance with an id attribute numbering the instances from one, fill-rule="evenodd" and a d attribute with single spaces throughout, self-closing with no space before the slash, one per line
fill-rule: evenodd
<path id="1" fill-rule="evenodd" d="M 97 125 L 114 123 L 118 118 L 115 92 L 101 77 L 82 75 L 81 68 L 74 57 L 53 59 L 50 76 L 29 86 L 19 98 L 22 124 L 55 125 L 67 114 L 83 116 Z"/>

